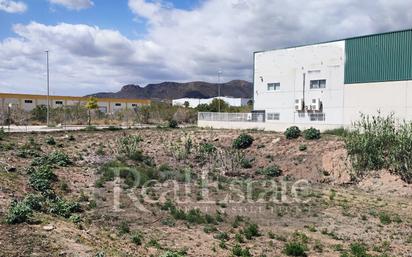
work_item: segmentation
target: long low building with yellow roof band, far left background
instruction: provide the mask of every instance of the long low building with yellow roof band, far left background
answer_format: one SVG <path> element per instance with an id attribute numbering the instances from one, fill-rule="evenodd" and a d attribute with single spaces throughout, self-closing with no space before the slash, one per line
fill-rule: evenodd
<path id="1" fill-rule="evenodd" d="M 85 105 L 88 97 L 76 96 L 50 96 L 49 104 L 51 108 L 69 107 L 75 105 Z M 147 99 L 117 99 L 117 98 L 97 98 L 99 110 L 103 113 L 113 113 L 118 110 L 134 109 L 143 105 L 149 105 Z M 25 111 L 31 111 L 36 106 L 47 106 L 46 95 L 29 95 L 29 94 L 7 94 L 0 93 L 0 107 L 3 111 L 8 106 L 19 108 Z"/>

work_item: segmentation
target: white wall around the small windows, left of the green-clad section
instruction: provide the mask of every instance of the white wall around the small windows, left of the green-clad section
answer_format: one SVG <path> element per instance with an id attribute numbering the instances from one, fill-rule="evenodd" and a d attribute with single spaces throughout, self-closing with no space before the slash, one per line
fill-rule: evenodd
<path id="1" fill-rule="evenodd" d="M 341 125 L 344 63 L 344 41 L 255 53 L 254 109 L 279 114 L 279 120 L 267 123 Z M 310 89 L 311 80 L 321 79 L 326 88 Z M 268 83 L 280 83 L 279 90 L 269 91 Z M 306 106 L 320 99 L 323 112 L 297 112 L 295 99 L 303 99 Z M 311 121 L 314 113 L 325 119 Z"/>

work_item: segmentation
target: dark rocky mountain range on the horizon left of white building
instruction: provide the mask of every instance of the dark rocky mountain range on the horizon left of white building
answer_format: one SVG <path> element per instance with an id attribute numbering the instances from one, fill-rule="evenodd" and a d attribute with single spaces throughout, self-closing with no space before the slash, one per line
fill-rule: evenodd
<path id="1" fill-rule="evenodd" d="M 102 92 L 91 94 L 97 98 L 146 98 L 159 100 L 172 100 L 178 98 L 211 98 L 218 96 L 217 83 L 194 81 L 187 83 L 162 82 L 139 85 L 125 85 L 118 92 Z M 253 84 L 244 80 L 232 80 L 220 84 L 220 95 L 236 98 L 252 98 Z"/>

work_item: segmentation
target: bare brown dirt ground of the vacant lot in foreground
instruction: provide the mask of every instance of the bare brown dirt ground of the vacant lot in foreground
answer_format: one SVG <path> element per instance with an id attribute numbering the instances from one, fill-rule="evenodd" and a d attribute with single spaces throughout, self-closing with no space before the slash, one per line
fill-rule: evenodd
<path id="1" fill-rule="evenodd" d="M 27 171 L 33 157 L 19 154 L 28 142 L 38 145 L 40 155 L 62 151 L 70 157 L 71 165 L 54 170 L 58 180 L 53 188 L 79 202 L 82 211 L 77 222 L 45 212 L 34 212 L 30 222 L 2 222 L 0 256 L 162 256 L 178 251 L 181 255 L 163 256 L 236 256 L 236 245 L 250 251 L 237 256 L 287 256 L 287 245 L 297 240 L 307 256 L 342 256 L 351 244 L 366 247 L 369 255 L 362 256 L 412 256 L 412 185 L 387 171 L 352 182 L 344 142 L 336 136 L 287 140 L 279 133 L 247 131 L 252 146 L 233 151 L 232 142 L 241 133 L 153 128 L 10 134 L 0 141 L 0 219 L 12 200 L 33 192 Z M 147 169 L 159 174 L 161 184 L 130 186 L 115 178 L 97 186 L 101 167 L 117 159 L 117 140 L 125 135 L 141 137 L 139 147 L 151 160 Z M 55 145 L 46 143 L 50 136 Z M 205 143 L 215 152 L 200 158 Z M 242 167 L 240 159 L 247 159 L 249 167 Z M 122 165 L 141 169 L 140 162 Z M 268 167 L 279 168 L 281 175 L 262 175 Z M 166 199 L 186 212 L 199 209 L 214 222 L 178 219 L 165 207 Z M 250 224 L 258 225 L 259 235 L 248 239 Z"/>

